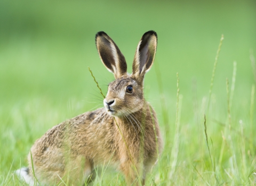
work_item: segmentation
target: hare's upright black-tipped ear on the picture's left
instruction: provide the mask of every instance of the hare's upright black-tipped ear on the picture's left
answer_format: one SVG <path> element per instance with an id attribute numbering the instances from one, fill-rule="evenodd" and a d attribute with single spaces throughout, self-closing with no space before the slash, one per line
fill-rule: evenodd
<path id="1" fill-rule="evenodd" d="M 127 64 L 123 54 L 107 33 L 100 31 L 95 36 L 96 46 L 102 63 L 114 73 L 115 78 L 120 78 L 127 72 Z"/>

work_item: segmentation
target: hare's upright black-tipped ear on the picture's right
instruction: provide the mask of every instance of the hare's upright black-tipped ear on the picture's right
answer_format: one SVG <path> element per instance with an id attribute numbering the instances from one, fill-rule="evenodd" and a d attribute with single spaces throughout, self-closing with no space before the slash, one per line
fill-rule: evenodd
<path id="1" fill-rule="evenodd" d="M 155 59 L 156 46 L 156 32 L 150 30 L 144 33 L 136 49 L 132 64 L 132 73 L 135 77 L 143 79 L 145 73 L 150 70 Z"/>

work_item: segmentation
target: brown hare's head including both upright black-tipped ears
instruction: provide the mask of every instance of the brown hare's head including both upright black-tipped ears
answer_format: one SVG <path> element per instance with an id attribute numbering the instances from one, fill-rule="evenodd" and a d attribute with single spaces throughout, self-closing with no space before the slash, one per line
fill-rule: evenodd
<path id="1" fill-rule="evenodd" d="M 156 32 L 148 31 L 142 36 L 135 52 L 132 74 L 127 73 L 123 54 L 105 32 L 98 32 L 95 40 L 102 63 L 114 73 L 116 79 L 109 83 L 107 96 L 103 100 L 106 111 L 113 116 L 139 111 L 144 103 L 144 75 L 153 65 L 156 54 Z"/>

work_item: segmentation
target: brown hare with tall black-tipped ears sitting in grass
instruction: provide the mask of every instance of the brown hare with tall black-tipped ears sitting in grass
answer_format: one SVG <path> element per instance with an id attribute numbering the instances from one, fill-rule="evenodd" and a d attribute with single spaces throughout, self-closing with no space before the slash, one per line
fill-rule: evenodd
<path id="1" fill-rule="evenodd" d="M 16 172 L 30 185 L 83 185 L 95 175 L 94 166 L 104 163 L 117 166 L 127 185 L 144 185 L 146 173 L 161 153 L 156 113 L 143 97 L 143 79 L 156 54 L 156 32 L 142 36 L 132 74 L 105 32 L 98 32 L 95 41 L 101 61 L 115 76 L 103 100 L 105 108 L 53 126 L 36 140 L 28 155 L 29 166 Z"/>

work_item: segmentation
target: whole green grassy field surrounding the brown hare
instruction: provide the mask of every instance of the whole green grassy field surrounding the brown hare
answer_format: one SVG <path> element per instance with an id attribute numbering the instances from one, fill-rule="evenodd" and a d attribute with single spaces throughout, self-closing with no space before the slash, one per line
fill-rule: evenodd
<path id="1" fill-rule="evenodd" d="M 101 30 L 121 49 L 129 72 L 143 33 L 158 35 L 144 91 L 165 146 L 146 184 L 256 185 L 255 1 L 6 0 L 0 0 L 0 185 L 26 185 L 13 172 L 27 166 L 35 140 L 103 106 L 87 69 L 106 95 L 114 76 L 95 47 Z M 105 168 L 97 167 L 94 185 L 125 185 L 122 173 Z"/>

